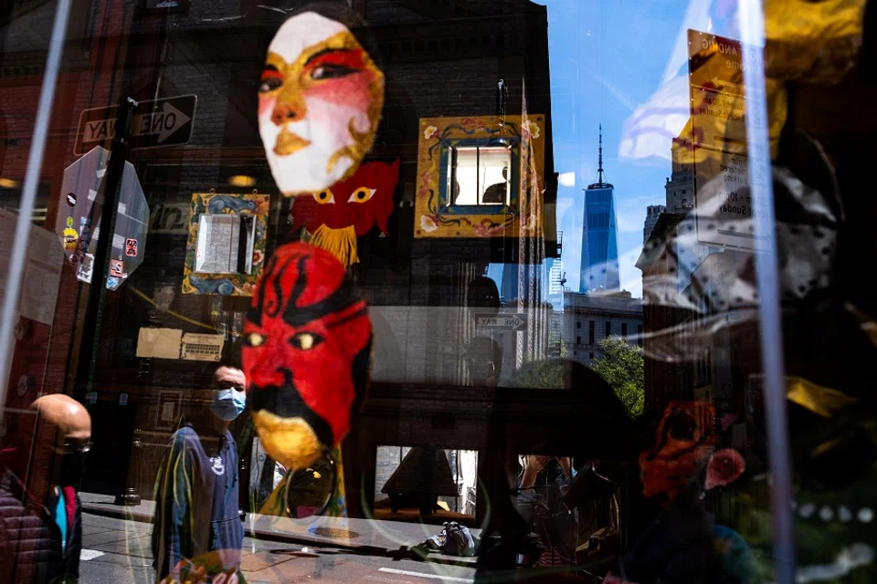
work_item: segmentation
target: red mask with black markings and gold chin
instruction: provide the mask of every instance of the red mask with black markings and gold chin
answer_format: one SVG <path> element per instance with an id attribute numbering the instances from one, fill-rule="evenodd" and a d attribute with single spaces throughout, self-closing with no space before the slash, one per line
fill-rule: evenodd
<path id="1" fill-rule="evenodd" d="M 283 245 L 244 324 L 243 369 L 266 451 L 288 469 L 341 442 L 365 397 L 372 325 L 365 300 L 329 252 Z"/>

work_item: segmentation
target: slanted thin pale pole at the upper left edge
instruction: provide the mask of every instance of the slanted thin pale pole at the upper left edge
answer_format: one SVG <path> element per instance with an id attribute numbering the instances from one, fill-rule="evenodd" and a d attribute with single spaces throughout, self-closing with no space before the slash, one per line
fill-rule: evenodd
<path id="1" fill-rule="evenodd" d="M 43 154 L 46 151 L 48 122 L 52 113 L 52 102 L 55 100 L 55 88 L 58 85 L 58 69 L 64 52 L 64 38 L 67 36 L 70 2 L 71 0 L 58 0 L 58 7 L 55 9 L 55 23 L 52 25 L 52 38 L 49 41 L 46 59 L 46 74 L 43 76 L 43 86 L 39 92 L 33 141 L 27 154 L 25 185 L 21 193 L 21 202 L 18 204 L 16 235 L 13 238 L 12 249 L 8 251 L 9 272 L 6 276 L 3 311 L 0 315 L 0 414 L 3 413 L 6 402 L 6 381 L 8 381 L 9 363 L 12 359 L 11 352 L 15 344 L 12 329 L 16 325 L 21 276 L 25 269 L 27 245 L 30 240 L 30 216 L 34 212 L 39 174 L 42 171 Z"/>

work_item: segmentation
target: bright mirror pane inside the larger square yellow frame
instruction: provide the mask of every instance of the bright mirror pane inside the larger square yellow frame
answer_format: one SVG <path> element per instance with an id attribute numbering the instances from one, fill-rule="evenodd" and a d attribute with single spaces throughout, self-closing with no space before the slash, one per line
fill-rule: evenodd
<path id="1" fill-rule="evenodd" d="M 452 206 L 511 204 L 511 145 L 452 146 L 447 181 Z"/>

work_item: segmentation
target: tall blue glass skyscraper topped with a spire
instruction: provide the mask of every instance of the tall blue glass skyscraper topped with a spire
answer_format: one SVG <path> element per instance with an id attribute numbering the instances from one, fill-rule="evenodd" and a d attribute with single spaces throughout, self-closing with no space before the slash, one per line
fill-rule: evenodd
<path id="1" fill-rule="evenodd" d="M 603 126 L 600 125 L 597 183 L 585 190 L 585 220 L 582 233 L 582 266 L 578 289 L 618 290 L 618 223 L 611 184 L 603 180 Z"/>

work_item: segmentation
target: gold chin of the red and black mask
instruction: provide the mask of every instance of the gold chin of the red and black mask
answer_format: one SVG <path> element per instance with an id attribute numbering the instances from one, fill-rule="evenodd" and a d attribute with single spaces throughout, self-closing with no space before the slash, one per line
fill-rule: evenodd
<path id="1" fill-rule="evenodd" d="M 253 412 L 253 422 L 265 450 L 289 470 L 307 468 L 320 458 L 323 444 L 311 424 L 301 418 L 281 418 L 271 412 Z"/>

